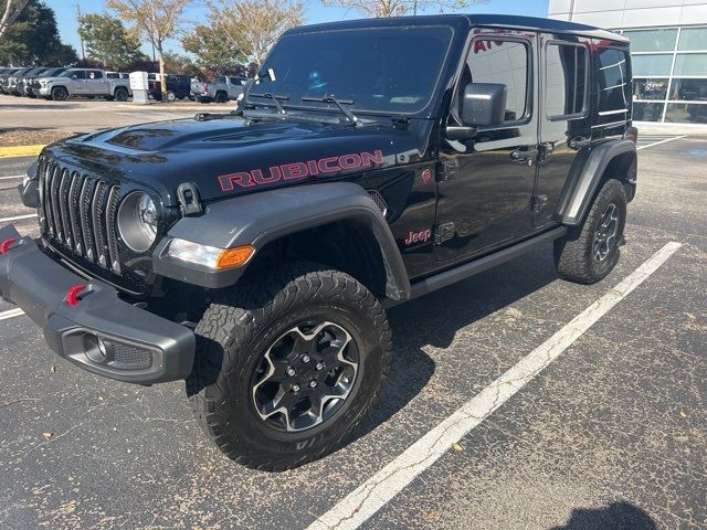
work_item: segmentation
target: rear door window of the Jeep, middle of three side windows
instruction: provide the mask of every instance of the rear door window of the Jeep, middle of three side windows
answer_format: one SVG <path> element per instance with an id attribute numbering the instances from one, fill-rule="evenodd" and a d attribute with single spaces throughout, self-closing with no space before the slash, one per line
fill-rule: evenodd
<path id="1" fill-rule="evenodd" d="M 588 53 L 584 46 L 546 47 L 545 108 L 550 121 L 581 118 L 587 109 Z"/>

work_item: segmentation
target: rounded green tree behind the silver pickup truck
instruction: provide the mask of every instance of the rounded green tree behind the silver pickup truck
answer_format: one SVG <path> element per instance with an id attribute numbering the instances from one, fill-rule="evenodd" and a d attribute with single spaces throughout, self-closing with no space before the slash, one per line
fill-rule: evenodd
<path id="1" fill-rule="evenodd" d="M 140 40 L 128 32 L 120 19 L 109 14 L 84 14 L 78 20 L 78 35 L 86 44 L 88 57 L 109 70 L 123 70 L 143 57 Z"/>

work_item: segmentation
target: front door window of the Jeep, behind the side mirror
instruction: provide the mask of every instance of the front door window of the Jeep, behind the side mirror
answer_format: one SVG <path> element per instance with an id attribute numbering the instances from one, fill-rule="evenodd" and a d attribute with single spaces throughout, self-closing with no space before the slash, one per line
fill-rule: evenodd
<path id="1" fill-rule="evenodd" d="M 506 123 L 528 114 L 529 50 L 523 42 L 475 40 L 472 43 L 462 84 L 499 83 L 506 85 Z"/>

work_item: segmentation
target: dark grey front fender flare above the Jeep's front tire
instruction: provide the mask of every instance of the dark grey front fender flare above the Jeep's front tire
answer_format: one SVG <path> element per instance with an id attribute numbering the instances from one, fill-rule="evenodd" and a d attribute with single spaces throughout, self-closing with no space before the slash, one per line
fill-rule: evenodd
<path id="1" fill-rule="evenodd" d="M 180 262 L 167 254 L 170 241 L 180 239 L 218 248 L 253 245 L 257 252 L 283 236 L 342 220 L 370 227 L 386 267 L 386 296 L 397 301 L 408 299 L 410 278 L 388 222 L 366 190 L 351 182 L 281 188 L 211 203 L 203 215 L 182 218 L 169 230 L 152 254 L 154 271 L 203 287 L 228 287 L 238 282 L 247 265 L 213 271 Z"/>

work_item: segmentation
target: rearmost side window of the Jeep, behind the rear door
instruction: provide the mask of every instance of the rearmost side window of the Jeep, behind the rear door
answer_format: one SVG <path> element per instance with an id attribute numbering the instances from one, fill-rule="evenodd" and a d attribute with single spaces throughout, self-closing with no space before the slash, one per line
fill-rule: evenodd
<path id="1" fill-rule="evenodd" d="M 626 52 L 613 47 L 599 50 L 599 114 L 622 114 L 630 108 L 631 78 Z"/>

